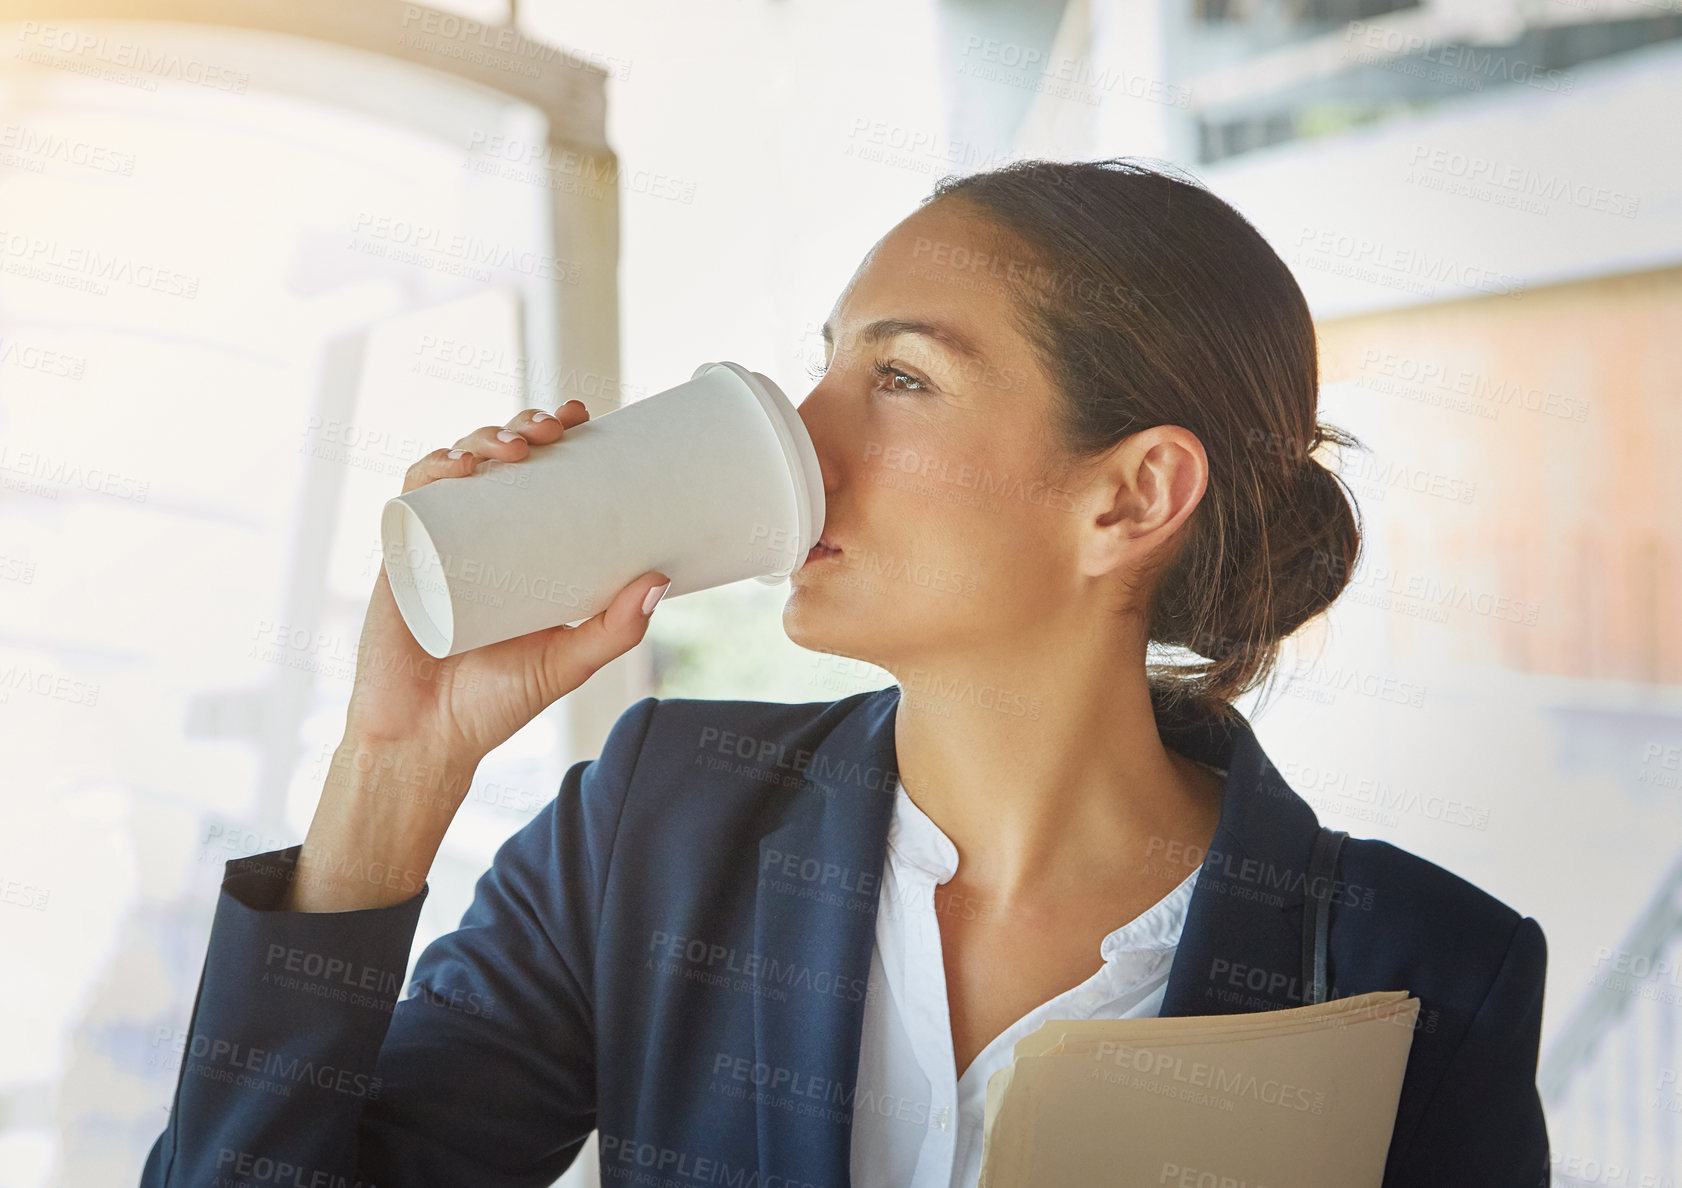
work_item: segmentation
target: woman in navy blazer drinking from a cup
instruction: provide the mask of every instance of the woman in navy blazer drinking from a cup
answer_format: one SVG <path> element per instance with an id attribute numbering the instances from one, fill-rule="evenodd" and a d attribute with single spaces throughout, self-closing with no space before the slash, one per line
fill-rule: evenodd
<path id="1" fill-rule="evenodd" d="M 957 1188 L 1045 1018 L 1406 989 L 1386 1188 L 1542 1185 L 1536 920 L 1383 841 L 1327 877 L 1231 708 L 1359 547 L 1278 256 L 1167 172 L 1018 163 L 937 187 L 824 342 L 828 518 L 784 624 L 895 685 L 643 698 L 399 1001 L 476 764 L 636 644 L 664 575 L 432 666 L 382 574 L 303 845 L 229 863 L 141 1183 L 537 1188 L 594 1129 L 609 1183 Z"/>

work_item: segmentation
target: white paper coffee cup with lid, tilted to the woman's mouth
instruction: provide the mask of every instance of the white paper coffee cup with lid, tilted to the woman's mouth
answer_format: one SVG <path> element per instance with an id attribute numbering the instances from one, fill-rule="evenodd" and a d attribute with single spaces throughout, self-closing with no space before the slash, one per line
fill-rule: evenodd
<path id="1" fill-rule="evenodd" d="M 737 363 L 387 501 L 385 572 L 404 623 L 442 660 L 580 623 L 639 574 L 666 597 L 775 584 L 824 527 L 817 453 L 789 397 Z"/>

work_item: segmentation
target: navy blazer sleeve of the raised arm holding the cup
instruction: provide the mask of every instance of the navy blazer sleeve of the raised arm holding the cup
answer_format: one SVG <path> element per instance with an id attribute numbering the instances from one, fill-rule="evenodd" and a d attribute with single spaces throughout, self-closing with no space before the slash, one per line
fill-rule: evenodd
<path id="1" fill-rule="evenodd" d="M 402 1001 L 426 885 L 390 907 L 284 912 L 301 846 L 227 863 L 141 1188 L 553 1183 L 595 1126 L 597 924 L 656 703 L 627 708 L 498 848 Z"/>

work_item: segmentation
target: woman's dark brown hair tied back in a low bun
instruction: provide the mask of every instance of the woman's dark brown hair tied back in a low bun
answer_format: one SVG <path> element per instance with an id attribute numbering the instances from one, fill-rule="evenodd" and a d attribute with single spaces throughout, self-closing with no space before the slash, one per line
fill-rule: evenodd
<path id="1" fill-rule="evenodd" d="M 1314 318 L 1290 269 L 1171 170 L 1023 160 L 942 178 L 923 205 L 960 199 L 987 224 L 991 273 L 1058 387 L 1068 469 L 1159 424 L 1203 443 L 1208 490 L 1145 575 L 1152 650 L 1184 651 L 1147 663 L 1147 680 L 1169 705 L 1224 719 L 1349 582 L 1354 496 L 1312 453 L 1361 443 L 1317 419 Z"/>

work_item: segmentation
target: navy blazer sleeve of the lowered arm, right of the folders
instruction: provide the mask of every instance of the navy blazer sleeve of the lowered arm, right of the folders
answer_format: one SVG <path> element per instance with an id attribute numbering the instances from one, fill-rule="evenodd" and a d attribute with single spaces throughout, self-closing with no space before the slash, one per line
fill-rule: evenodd
<path id="1" fill-rule="evenodd" d="M 1384 1188 L 1547 1188 L 1536 1089 L 1547 941 L 1524 917 Z"/>

